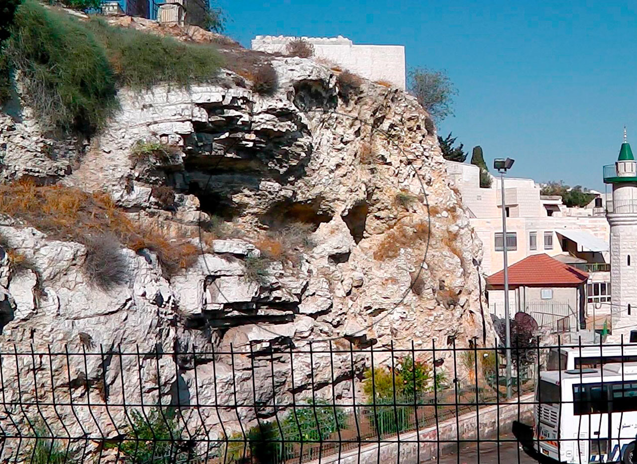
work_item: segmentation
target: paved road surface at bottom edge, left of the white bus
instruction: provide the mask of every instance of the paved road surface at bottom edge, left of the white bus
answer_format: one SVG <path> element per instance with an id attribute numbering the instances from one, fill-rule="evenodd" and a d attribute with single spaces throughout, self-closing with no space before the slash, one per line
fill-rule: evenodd
<path id="1" fill-rule="evenodd" d="M 513 435 L 503 437 L 513 439 Z M 499 454 L 499 459 L 498 459 Z M 478 457 L 479 456 L 479 457 Z M 554 463 L 555 461 L 540 458 L 540 464 Z M 431 462 L 431 461 L 429 461 Z M 517 442 L 480 443 L 480 453 L 475 443 L 462 446 L 460 453 L 445 453 L 440 456 L 439 464 L 537 464 L 537 458 L 529 456 L 519 447 Z"/>

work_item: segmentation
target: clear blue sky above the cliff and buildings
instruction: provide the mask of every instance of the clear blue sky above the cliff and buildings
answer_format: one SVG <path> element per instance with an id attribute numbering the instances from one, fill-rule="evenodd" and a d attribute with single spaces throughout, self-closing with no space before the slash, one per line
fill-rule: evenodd
<path id="1" fill-rule="evenodd" d="M 603 190 L 623 126 L 637 149 L 637 3 L 617 1 L 218 0 L 227 34 L 337 36 L 402 44 L 409 67 L 445 69 L 453 131 L 512 176 Z"/>

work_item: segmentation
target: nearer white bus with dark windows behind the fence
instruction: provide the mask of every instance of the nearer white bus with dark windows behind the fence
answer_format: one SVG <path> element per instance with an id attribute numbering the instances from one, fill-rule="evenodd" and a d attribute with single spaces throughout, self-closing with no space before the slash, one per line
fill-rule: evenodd
<path id="1" fill-rule="evenodd" d="M 637 363 L 540 373 L 534 447 L 571 464 L 623 461 L 637 434 Z"/>

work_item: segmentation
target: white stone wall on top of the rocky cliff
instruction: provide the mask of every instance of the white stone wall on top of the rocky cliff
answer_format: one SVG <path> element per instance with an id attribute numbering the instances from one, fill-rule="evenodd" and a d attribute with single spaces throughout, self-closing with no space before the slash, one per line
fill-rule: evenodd
<path id="1" fill-rule="evenodd" d="M 252 50 L 268 53 L 285 53 L 290 41 L 297 37 L 256 36 L 252 39 Z M 387 81 L 404 90 L 405 64 L 404 45 L 355 45 L 343 36 L 317 38 L 303 37 L 314 46 L 316 57 L 372 81 Z"/>

